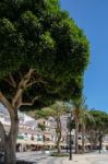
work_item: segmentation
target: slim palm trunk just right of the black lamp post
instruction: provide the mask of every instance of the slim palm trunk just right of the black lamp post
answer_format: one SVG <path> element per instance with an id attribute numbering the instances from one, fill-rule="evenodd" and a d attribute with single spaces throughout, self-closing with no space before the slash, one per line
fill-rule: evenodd
<path id="1" fill-rule="evenodd" d="M 79 153 L 79 120 L 75 119 L 75 153 Z"/>

